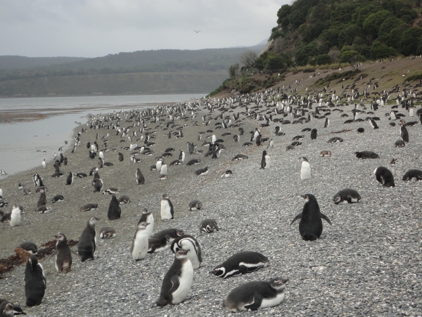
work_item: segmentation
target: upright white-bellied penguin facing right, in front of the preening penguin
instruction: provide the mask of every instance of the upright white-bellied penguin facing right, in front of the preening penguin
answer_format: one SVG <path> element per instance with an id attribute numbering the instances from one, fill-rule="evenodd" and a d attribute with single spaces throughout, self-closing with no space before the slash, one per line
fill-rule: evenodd
<path id="1" fill-rule="evenodd" d="M 189 260 L 191 252 L 189 249 L 177 251 L 171 267 L 164 276 L 157 306 L 176 305 L 188 297 L 194 277 L 194 269 Z"/>

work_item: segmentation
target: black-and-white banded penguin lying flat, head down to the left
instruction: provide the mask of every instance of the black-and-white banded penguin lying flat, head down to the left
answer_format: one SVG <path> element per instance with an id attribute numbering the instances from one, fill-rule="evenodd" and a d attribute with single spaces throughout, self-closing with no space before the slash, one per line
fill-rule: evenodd
<path id="1" fill-rule="evenodd" d="M 257 271 L 268 266 L 268 263 L 268 258 L 259 252 L 242 251 L 230 256 L 221 265 L 215 267 L 210 274 L 226 279 Z"/>

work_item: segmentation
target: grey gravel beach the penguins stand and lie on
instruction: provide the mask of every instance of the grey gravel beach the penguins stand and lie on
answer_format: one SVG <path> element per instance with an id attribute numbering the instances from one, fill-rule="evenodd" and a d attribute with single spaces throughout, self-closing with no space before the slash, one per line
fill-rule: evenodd
<path id="1" fill-rule="evenodd" d="M 212 121 L 208 127 L 192 127 L 191 121 L 186 122 L 191 127 L 184 130 L 182 139 L 168 140 L 159 130 L 157 139 L 153 140 L 157 154 L 168 146 L 176 149 L 167 163 L 176 159 L 177 150 L 183 148 L 187 153 L 185 163 L 195 157 L 201 158 L 201 165 L 169 167 L 168 179 L 158 181 L 159 173 L 149 171 L 155 155 L 142 155 L 143 162 L 134 165 L 129 161 L 128 151 L 123 152 L 125 161 L 122 163 L 117 161 L 117 152 L 106 152 L 105 161 L 113 162 L 114 166 L 99 172 L 104 189 L 117 187 L 120 194 L 126 194 L 132 200 L 122 206 L 122 219 L 112 222 L 106 217 L 110 196 L 92 193 L 90 176 L 77 179 L 72 188 L 66 188 L 69 186 L 64 185 L 65 178 L 48 176 L 53 173 L 51 162 L 48 172 L 41 167 L 36 169 L 48 187 L 47 201 L 58 193 L 65 196 L 64 202 L 57 206 L 52 204 L 53 212 L 45 215 L 31 211 L 38 194 L 23 196 L 22 191 L 17 190 L 19 181 L 31 184 L 31 171 L 0 181 L 9 205 L 20 202 L 26 211 L 23 226 L 10 228 L 8 224 L 0 224 L 2 257 L 13 254 L 23 240 L 32 240 L 39 245 L 51 240 L 58 231 L 65 233 L 68 239 L 78 239 L 93 215 L 101 218 L 97 231 L 104 226 L 112 226 L 117 231 L 117 237 L 113 239 L 98 239 L 100 245 L 94 261 L 82 263 L 75 258 L 68 274 L 57 274 L 52 260 L 43 261 L 48 281 L 45 297 L 41 305 L 26 307 L 24 311 L 33 316 L 422 315 L 421 185 L 417 181 L 401 180 L 409 169 L 422 169 L 422 128 L 420 125 L 408 127 L 410 143 L 404 148 L 395 148 L 399 128 L 388 126 L 384 113 L 389 108 L 386 106 L 376 112 L 381 118 L 377 122 L 379 130 L 371 130 L 369 122 L 343 125 L 347 118 L 340 118 L 338 112 L 330 116 L 328 128 L 323 128 L 324 120 L 317 119 L 303 125 L 280 125 L 281 131 L 286 133 L 280 137 L 274 136 L 274 127 L 278 124 L 271 123 L 270 127 L 261 129 L 264 137 L 274 139 L 274 148 L 268 150 L 272 158 L 269 170 L 260 170 L 265 147 L 242 147 L 243 142 L 249 141 L 248 132 L 259 127 L 262 121 L 244 119 L 245 135 L 238 143 L 232 138 L 237 134 L 237 128 L 215 130 L 217 138 L 224 132 L 232 133 L 222 137 L 226 149 L 219 160 L 211 160 L 203 154 L 189 155 L 186 150 L 187 141 L 194 141 L 200 147 L 201 141 L 196 141 L 197 131 L 214 128 L 217 121 Z M 349 113 L 352 107 L 341 109 Z M 216 116 L 217 113 L 213 113 L 213 117 Z M 195 120 L 202 122 L 201 116 Z M 121 123 L 122 126 L 131 124 L 123 120 Z M 318 138 L 311 140 L 310 132 L 301 133 L 305 127 L 317 128 Z M 358 134 L 358 127 L 364 127 L 366 132 Z M 353 131 L 331 133 L 342 129 Z M 65 174 L 70 170 L 88 174 L 96 164 L 97 160 L 88 158 L 85 148 L 87 141 L 94 140 L 96 132 L 100 136 L 110 133 L 109 148 L 121 146 L 114 130 L 89 131 L 82 135 L 83 145 L 77 153 L 65 155 L 70 160 L 70 166 L 62 168 Z M 285 151 L 291 138 L 298 134 L 306 135 L 301 140 L 303 144 Z M 211 133 L 204 137 L 206 135 Z M 333 136 L 342 137 L 344 142 L 326 143 Z M 203 149 L 205 153 L 206 148 Z M 320 157 L 319 152 L 324 149 L 331 150 L 332 157 Z M 357 150 L 374 151 L 380 159 L 358 160 L 353 154 Z M 248 155 L 249 159 L 231 162 L 238 153 Z M 300 181 L 300 156 L 309 160 L 313 173 L 311 180 Z M 398 159 L 395 165 L 390 164 L 392 157 Z M 208 175 L 194 175 L 196 169 L 205 166 L 210 168 Z M 383 188 L 376 181 L 372 172 L 379 166 L 392 171 L 396 187 Z M 136 185 L 137 167 L 145 176 L 145 185 Z M 220 179 L 226 169 L 233 171 L 233 177 Z M 357 204 L 335 205 L 332 197 L 347 187 L 357 190 L 362 200 Z M 175 208 L 175 219 L 169 223 L 161 222 L 159 216 L 160 196 L 164 192 L 169 194 Z M 289 226 L 303 208 L 304 200 L 300 195 L 306 193 L 315 195 L 321 212 L 333 223 L 329 226 L 323 222 L 321 239 L 313 242 L 300 238 L 298 222 Z M 200 199 L 203 209 L 189 212 L 188 204 L 192 199 Z M 99 208 L 78 213 L 77 208 L 86 202 L 98 203 Z M 182 228 L 194 235 L 201 245 L 204 262 L 201 269 L 195 271 L 189 298 L 179 305 L 152 307 L 158 299 L 162 278 L 173 260 L 170 250 L 148 254 L 139 262 L 131 259 L 131 241 L 144 207 L 154 212 L 154 231 L 170 226 Z M 9 209 L 4 208 L 5 211 Z M 215 219 L 220 231 L 201 235 L 199 225 L 205 218 Z M 269 258 L 270 266 L 227 280 L 208 274 L 228 256 L 244 250 L 262 252 Z M 24 266 L 18 267 L 6 279 L 0 280 L 0 297 L 24 304 L 24 270 Z M 222 308 L 222 300 L 232 288 L 247 281 L 269 280 L 276 276 L 290 280 L 280 305 L 243 313 L 230 313 Z"/>

